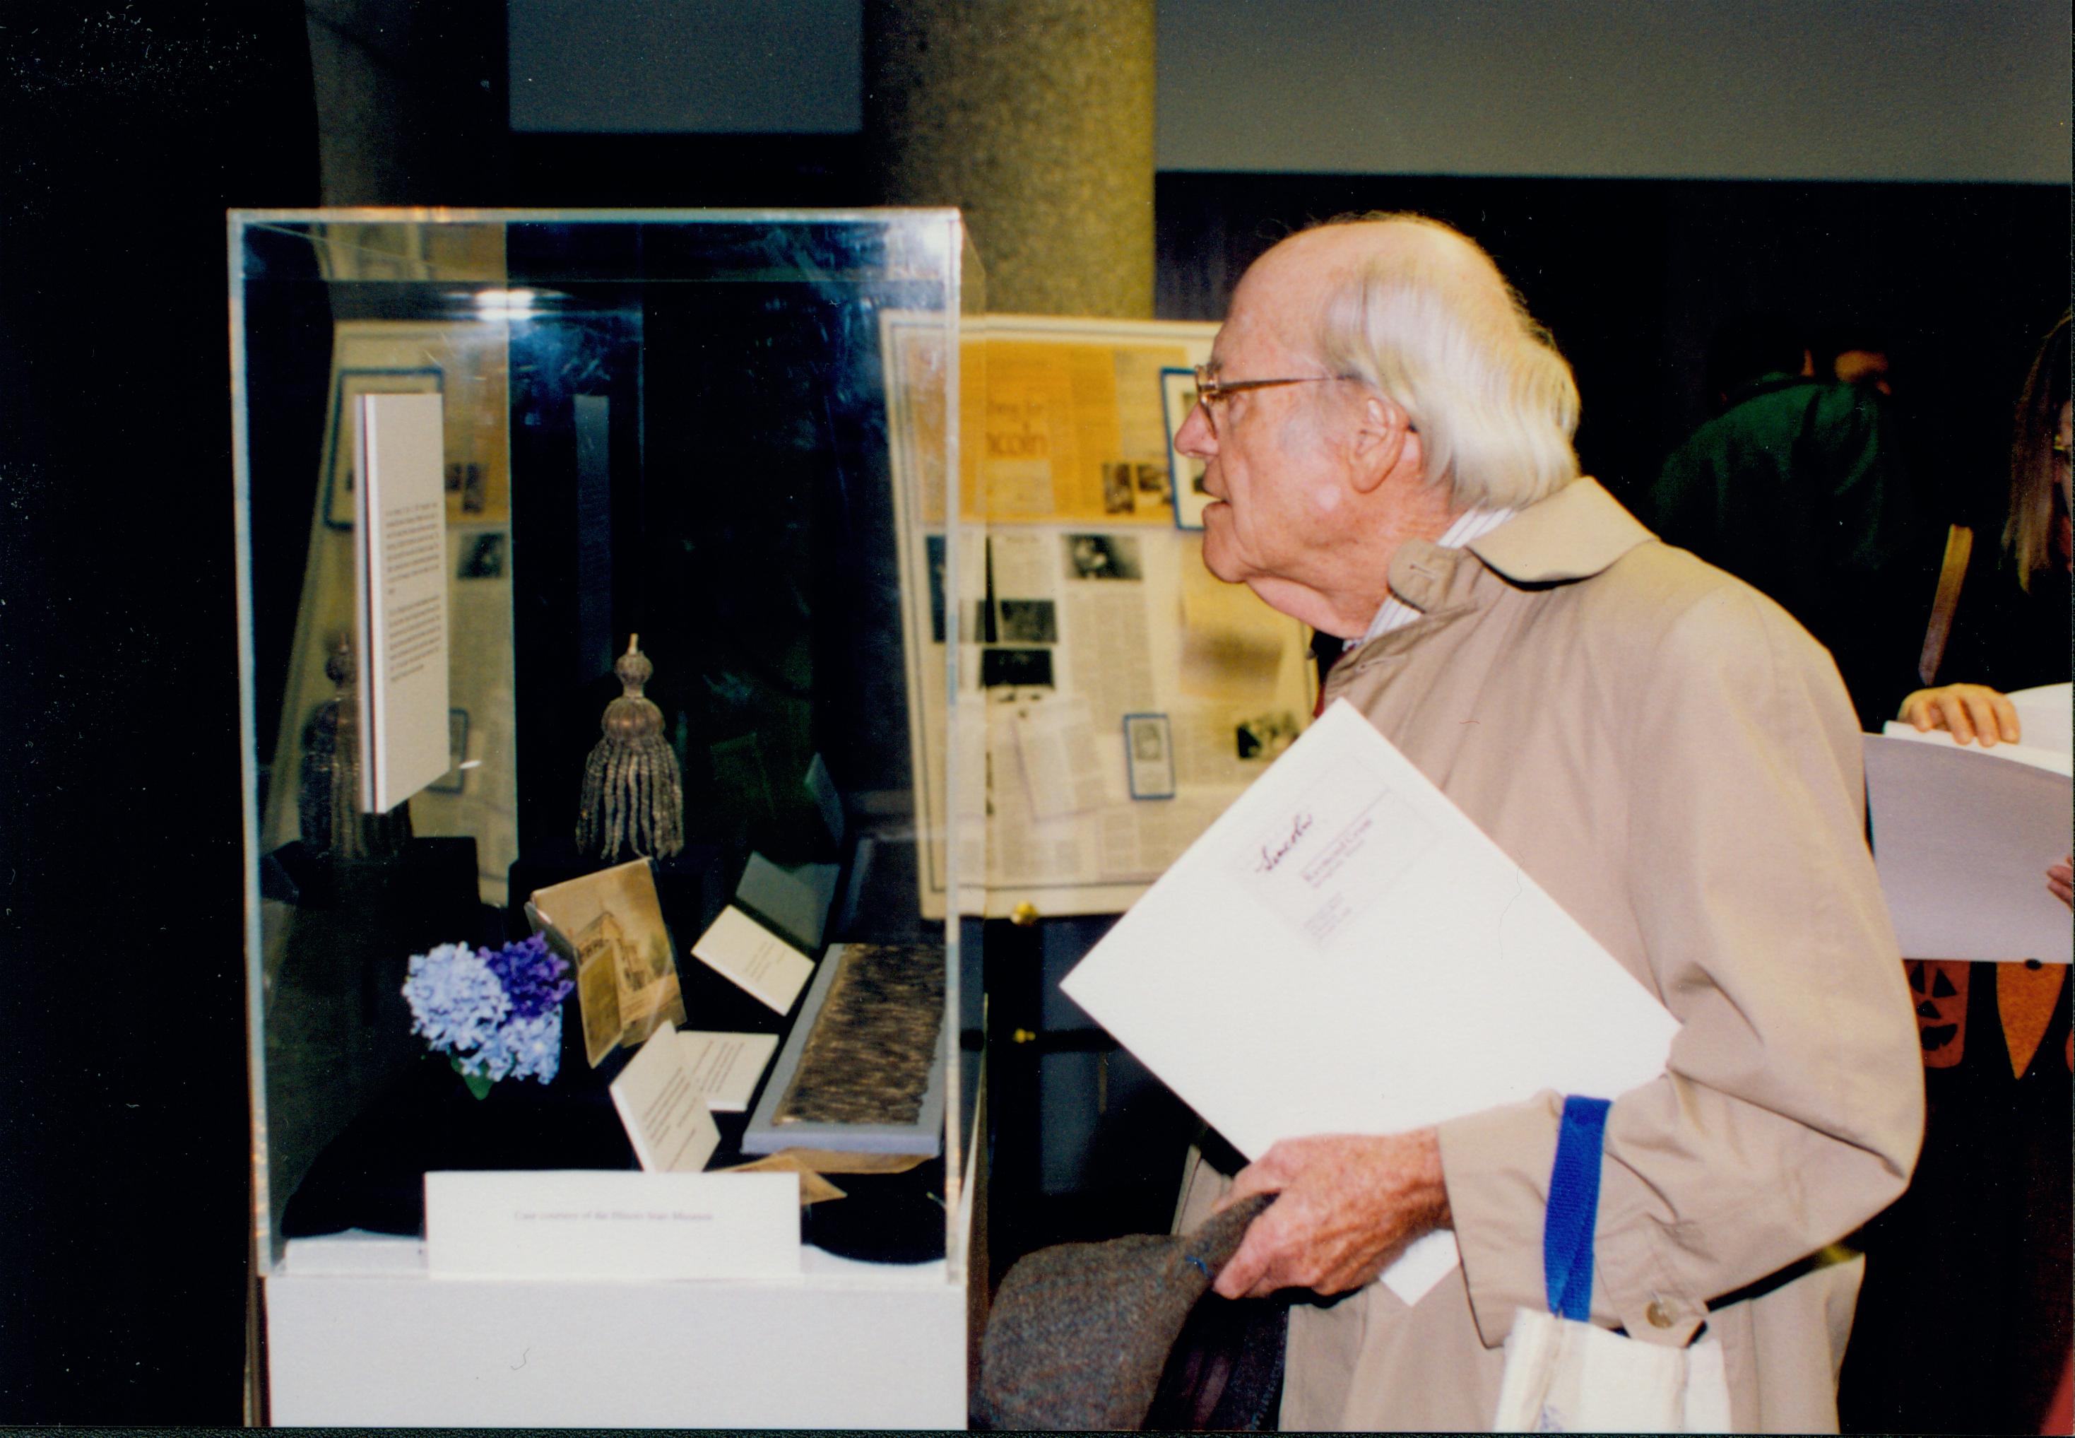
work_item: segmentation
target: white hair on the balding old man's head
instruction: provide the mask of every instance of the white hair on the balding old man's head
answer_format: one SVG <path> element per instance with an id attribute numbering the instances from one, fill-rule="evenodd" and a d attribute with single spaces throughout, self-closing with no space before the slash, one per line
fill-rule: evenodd
<path id="1" fill-rule="evenodd" d="M 1403 243 L 1328 291 L 1320 359 L 1405 409 L 1457 506 L 1519 508 L 1577 479 L 1577 380 L 1490 255 L 1426 216 L 1357 222 Z"/>

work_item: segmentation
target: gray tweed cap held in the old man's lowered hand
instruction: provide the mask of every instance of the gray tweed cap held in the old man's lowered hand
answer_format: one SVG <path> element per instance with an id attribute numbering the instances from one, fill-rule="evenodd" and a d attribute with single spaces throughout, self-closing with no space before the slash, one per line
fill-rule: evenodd
<path id="1" fill-rule="evenodd" d="M 979 1349 L 979 1417 L 994 1428 L 1143 1428 L 1189 1309 L 1274 1195 L 1187 1235 L 1060 1243 L 1008 1270 Z"/>

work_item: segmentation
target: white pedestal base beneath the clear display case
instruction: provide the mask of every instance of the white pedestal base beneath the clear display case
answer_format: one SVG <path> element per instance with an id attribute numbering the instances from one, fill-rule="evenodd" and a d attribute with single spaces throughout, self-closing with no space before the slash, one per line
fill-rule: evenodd
<path id="1" fill-rule="evenodd" d="M 415 1239 L 288 1243 L 270 1417 L 367 1428 L 965 1428 L 965 1284 L 801 1249 L 755 1282 L 473 1280 Z"/>

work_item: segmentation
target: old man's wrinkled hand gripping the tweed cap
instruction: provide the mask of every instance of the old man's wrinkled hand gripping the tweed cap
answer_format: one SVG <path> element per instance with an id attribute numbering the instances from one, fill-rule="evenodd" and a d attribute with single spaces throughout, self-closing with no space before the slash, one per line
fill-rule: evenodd
<path id="1" fill-rule="evenodd" d="M 1228 1299 L 1359 1289 L 1405 1243 L 1448 1226 L 1434 1129 L 1284 1139 L 1239 1170 L 1218 1208 L 1253 1193 L 1280 1197 L 1247 1226 L 1218 1274 L 1218 1293 Z"/>

